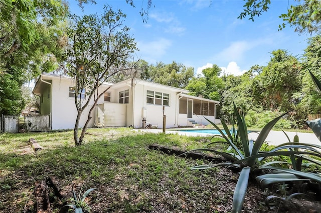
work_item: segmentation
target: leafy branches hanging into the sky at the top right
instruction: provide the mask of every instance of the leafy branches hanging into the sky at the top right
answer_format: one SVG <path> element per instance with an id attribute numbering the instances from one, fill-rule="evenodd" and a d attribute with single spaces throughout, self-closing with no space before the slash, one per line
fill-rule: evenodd
<path id="1" fill-rule="evenodd" d="M 296 5 L 290 5 L 287 13 L 281 14 L 279 17 L 284 21 L 279 25 L 279 30 L 284 28 L 286 24 L 295 27 L 295 31 L 302 33 L 320 32 L 321 29 L 321 1 L 319 0 L 295 0 Z M 262 12 L 269 9 L 271 0 L 245 0 L 243 5 L 244 11 L 240 13 L 238 18 L 242 19 L 249 16 L 254 21 L 255 16 L 259 16 Z"/>

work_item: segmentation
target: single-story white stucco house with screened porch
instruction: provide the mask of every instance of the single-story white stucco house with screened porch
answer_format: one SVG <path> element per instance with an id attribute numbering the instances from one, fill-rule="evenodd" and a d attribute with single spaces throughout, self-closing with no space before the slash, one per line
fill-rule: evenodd
<path id="1" fill-rule="evenodd" d="M 42 73 L 33 89 L 40 97 L 40 114 L 50 115 L 51 129 L 74 128 L 77 110 L 74 101 L 74 81 L 71 77 Z M 163 128 L 163 106 L 166 128 L 187 126 L 192 123 L 208 124 L 204 118 L 219 122 L 216 106 L 219 101 L 189 95 L 186 89 L 129 78 L 119 83 L 104 83 L 99 90 L 109 87 L 92 111 L 88 127 L 132 126 L 147 124 Z M 79 98 L 88 98 L 85 91 Z M 90 105 L 91 104 L 91 105 Z M 90 100 L 89 106 L 94 104 Z M 88 117 L 83 112 L 80 127 Z"/>

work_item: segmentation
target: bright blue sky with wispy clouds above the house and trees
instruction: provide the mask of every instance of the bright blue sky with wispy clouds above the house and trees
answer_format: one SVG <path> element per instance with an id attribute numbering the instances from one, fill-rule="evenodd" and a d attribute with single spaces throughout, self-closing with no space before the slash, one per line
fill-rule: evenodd
<path id="1" fill-rule="evenodd" d="M 124 25 L 137 42 L 137 58 L 154 64 L 166 64 L 173 60 L 192 66 L 195 73 L 217 64 L 224 72 L 241 74 L 252 65 L 266 65 L 270 52 L 286 49 L 300 57 L 309 35 L 299 35 L 286 26 L 278 31 L 292 0 L 271 0 L 267 12 L 256 17 L 238 19 L 243 10 L 243 0 L 152 0 L 147 22 L 139 11 L 146 8 L 147 0 L 134 0 L 135 8 L 125 0 L 97 0 L 97 4 L 84 5 L 82 11 L 77 2 L 69 0 L 73 13 L 78 15 L 101 13 L 103 4 L 121 9 L 127 14 Z"/>

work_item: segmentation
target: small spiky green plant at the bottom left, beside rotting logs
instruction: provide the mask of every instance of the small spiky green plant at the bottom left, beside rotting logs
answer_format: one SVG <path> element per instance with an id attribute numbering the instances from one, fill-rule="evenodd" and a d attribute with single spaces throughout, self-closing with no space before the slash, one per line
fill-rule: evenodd
<path id="1" fill-rule="evenodd" d="M 87 191 L 85 191 L 83 195 L 81 195 L 82 189 L 85 185 L 85 181 L 84 181 L 84 183 L 81 186 L 79 196 L 77 197 L 76 191 L 74 189 L 74 184 L 72 183 L 72 181 L 71 181 L 71 185 L 72 185 L 72 193 L 73 193 L 73 198 L 70 198 L 71 203 L 64 205 L 60 209 L 60 212 L 65 212 L 66 209 L 70 209 L 70 208 L 72 208 L 75 213 L 90 212 L 90 207 L 84 200 L 88 196 L 88 194 L 96 188 L 90 188 Z"/>

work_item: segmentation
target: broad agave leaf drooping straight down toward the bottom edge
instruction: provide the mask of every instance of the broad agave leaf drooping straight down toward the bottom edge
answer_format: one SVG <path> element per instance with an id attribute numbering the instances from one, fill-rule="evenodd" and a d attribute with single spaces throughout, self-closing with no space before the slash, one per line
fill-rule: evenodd
<path id="1" fill-rule="evenodd" d="M 251 168 L 250 167 L 244 167 L 240 173 L 239 179 L 236 183 L 236 187 L 233 194 L 233 207 L 232 212 L 241 212 L 246 190 L 247 190 L 247 184 L 249 181 L 249 175 L 250 175 Z"/>

